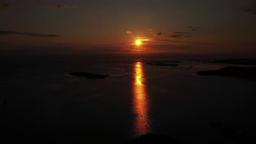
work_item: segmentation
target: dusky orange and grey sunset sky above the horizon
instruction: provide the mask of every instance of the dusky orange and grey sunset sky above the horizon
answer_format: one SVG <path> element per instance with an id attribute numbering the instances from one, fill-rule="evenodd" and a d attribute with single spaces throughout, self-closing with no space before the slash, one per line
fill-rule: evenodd
<path id="1" fill-rule="evenodd" d="M 0 19 L 5 53 L 256 53 L 254 0 L 3 0 Z"/>

